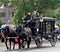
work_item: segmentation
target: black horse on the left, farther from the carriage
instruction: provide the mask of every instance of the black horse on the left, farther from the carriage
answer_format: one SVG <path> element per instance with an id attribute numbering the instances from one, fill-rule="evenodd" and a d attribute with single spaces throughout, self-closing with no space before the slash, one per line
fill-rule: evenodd
<path id="1" fill-rule="evenodd" d="M 6 26 L 2 31 L 5 37 L 5 45 L 7 49 L 11 49 L 11 42 L 13 42 L 13 49 L 15 48 L 15 37 L 17 37 L 14 30 L 12 30 L 9 26 Z M 8 46 L 9 40 L 9 46 Z"/>

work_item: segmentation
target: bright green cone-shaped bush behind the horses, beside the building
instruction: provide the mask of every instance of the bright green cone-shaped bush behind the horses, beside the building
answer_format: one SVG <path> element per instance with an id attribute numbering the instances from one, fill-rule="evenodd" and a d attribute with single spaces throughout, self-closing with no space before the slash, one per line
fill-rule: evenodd
<path id="1" fill-rule="evenodd" d="M 14 16 L 11 19 L 11 23 L 14 25 L 22 25 L 23 21 L 19 9 L 17 9 L 16 12 L 14 13 Z"/>

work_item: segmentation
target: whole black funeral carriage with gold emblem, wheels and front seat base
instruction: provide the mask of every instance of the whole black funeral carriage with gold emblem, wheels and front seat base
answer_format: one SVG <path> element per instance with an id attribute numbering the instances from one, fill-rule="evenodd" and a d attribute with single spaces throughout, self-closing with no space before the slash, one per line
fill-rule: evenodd
<path id="1" fill-rule="evenodd" d="M 57 34 L 55 31 L 56 19 L 49 17 L 40 17 L 39 19 L 34 20 L 38 20 L 39 24 L 36 23 L 34 25 L 34 23 L 32 23 L 29 28 L 32 30 L 32 38 L 34 39 L 37 47 L 42 46 L 43 39 L 48 40 L 52 46 L 55 46 L 57 42 Z M 38 25 L 38 27 L 36 27 L 36 25 Z"/>

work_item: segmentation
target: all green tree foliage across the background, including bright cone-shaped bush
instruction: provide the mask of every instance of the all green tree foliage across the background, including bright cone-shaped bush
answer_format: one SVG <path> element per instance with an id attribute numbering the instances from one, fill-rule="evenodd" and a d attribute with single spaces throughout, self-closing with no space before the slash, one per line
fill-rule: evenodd
<path id="1" fill-rule="evenodd" d="M 16 7 L 16 11 L 13 18 L 13 24 L 20 24 L 22 23 L 21 19 L 22 16 L 26 15 L 27 11 L 33 10 L 36 8 L 40 14 L 43 16 L 52 17 L 54 15 L 54 10 L 60 7 L 60 0 L 0 0 L 0 3 L 4 3 L 5 6 Z M 10 3 L 10 5 L 8 5 Z M 57 19 L 60 19 L 60 11 L 59 9 L 56 10 Z M 58 12 L 58 13 L 57 13 Z"/>

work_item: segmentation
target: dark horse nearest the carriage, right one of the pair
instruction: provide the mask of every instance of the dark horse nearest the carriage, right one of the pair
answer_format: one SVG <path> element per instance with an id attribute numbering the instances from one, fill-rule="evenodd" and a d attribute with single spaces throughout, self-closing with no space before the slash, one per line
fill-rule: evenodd
<path id="1" fill-rule="evenodd" d="M 19 48 L 20 48 L 20 39 L 25 39 L 27 42 L 27 48 L 29 48 L 30 46 L 30 42 L 31 42 L 31 29 L 27 28 L 27 27 L 17 27 L 16 32 L 18 34 L 18 44 L 19 44 Z"/>

